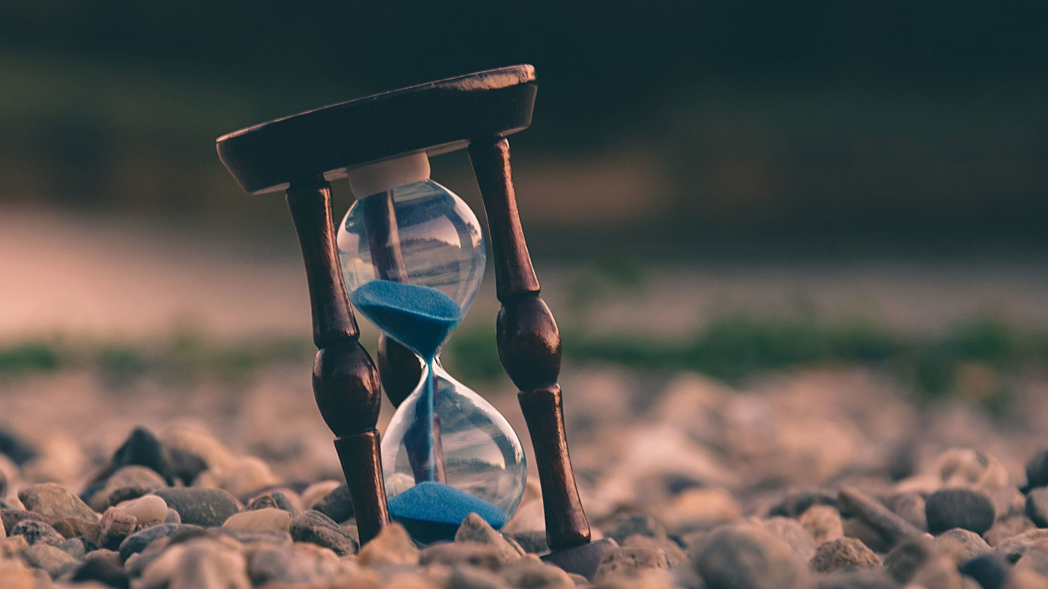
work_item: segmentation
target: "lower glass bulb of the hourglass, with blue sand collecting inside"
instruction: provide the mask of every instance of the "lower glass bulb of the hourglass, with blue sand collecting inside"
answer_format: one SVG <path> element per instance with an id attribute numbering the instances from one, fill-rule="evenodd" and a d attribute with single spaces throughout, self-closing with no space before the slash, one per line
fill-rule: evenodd
<path id="1" fill-rule="evenodd" d="M 432 394 L 423 377 L 381 443 L 390 516 L 424 543 L 453 539 L 471 512 L 500 529 L 527 477 L 524 449 L 506 419 L 439 363 L 432 366 Z"/>

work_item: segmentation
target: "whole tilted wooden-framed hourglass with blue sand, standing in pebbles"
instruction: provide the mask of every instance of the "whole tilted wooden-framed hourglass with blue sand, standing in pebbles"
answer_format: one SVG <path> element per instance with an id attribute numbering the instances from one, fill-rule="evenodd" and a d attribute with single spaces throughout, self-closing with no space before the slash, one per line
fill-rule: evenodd
<path id="1" fill-rule="evenodd" d="M 242 129 L 220 137 L 218 153 L 247 192 L 286 191 L 319 348 L 314 397 L 336 436 L 361 541 L 392 515 L 430 542 L 454 535 L 468 512 L 501 527 L 526 473 L 505 419 L 439 362 L 485 254 L 476 217 L 430 180 L 428 157 L 468 148 L 502 303 L 499 357 L 520 390 L 542 485 L 551 549 L 543 559 L 592 577 L 614 541 L 590 542 L 556 384 L 561 339 L 539 297 L 505 138 L 530 125 L 536 89 L 530 65 L 476 72 Z M 341 177 L 357 202 L 336 234 L 328 181 Z M 350 300 L 386 335 L 378 370 L 357 342 Z M 398 406 L 380 443 L 379 379 Z"/>

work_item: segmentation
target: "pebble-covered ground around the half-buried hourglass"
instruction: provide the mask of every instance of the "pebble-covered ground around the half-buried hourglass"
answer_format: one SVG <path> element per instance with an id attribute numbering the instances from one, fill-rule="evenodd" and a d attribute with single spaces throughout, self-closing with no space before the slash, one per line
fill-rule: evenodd
<path id="1" fill-rule="evenodd" d="M 859 372 L 743 391 L 681 375 L 651 394 L 628 373 L 569 371 L 580 490 L 593 537 L 619 545 L 585 580 L 538 558 L 533 472 L 502 533 L 471 516 L 454 542 L 418 546 L 392 525 L 361 547 L 299 378 L 179 393 L 187 411 L 224 416 L 214 429 L 169 422 L 178 410 L 156 391 L 87 386 L 108 400 L 70 398 L 75 419 L 53 398 L 40 415 L 49 393 L 32 383 L 20 384 L 31 402 L 4 391 L 0 587 L 1048 587 L 1048 388 L 1035 384 L 991 418 L 919 408 Z M 514 396 L 492 400 L 530 454 Z"/>

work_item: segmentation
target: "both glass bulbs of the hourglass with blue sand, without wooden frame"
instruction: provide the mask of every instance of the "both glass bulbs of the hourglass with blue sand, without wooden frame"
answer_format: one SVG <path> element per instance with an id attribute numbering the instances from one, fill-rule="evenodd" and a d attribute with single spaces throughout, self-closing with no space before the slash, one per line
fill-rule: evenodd
<path id="1" fill-rule="evenodd" d="M 349 300 L 424 365 L 381 443 L 390 516 L 424 543 L 454 538 L 471 512 L 499 529 L 524 493 L 524 450 L 505 418 L 437 361 L 480 288 L 480 223 L 430 179 L 424 153 L 348 175 L 358 199 L 336 243 Z"/>

